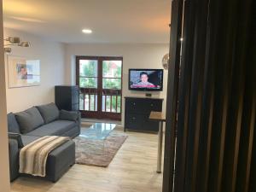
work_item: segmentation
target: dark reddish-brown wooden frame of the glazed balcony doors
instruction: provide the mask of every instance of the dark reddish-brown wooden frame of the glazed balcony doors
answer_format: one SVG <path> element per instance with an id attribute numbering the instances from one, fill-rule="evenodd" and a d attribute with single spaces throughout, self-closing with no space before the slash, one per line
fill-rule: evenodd
<path id="1" fill-rule="evenodd" d="M 121 120 L 122 119 L 122 101 L 123 101 L 123 57 L 122 56 L 92 56 L 92 55 L 76 55 L 76 84 L 79 86 L 79 61 L 80 60 L 97 60 L 98 61 L 98 77 L 97 77 L 97 111 L 84 111 L 81 110 L 81 115 L 83 118 L 89 119 L 111 119 L 111 120 Z M 120 90 L 120 112 L 119 117 L 117 113 L 102 112 L 102 61 L 122 61 L 121 66 L 121 90 Z M 101 78 L 100 78 L 101 77 Z M 79 87 L 80 90 L 80 87 Z M 80 101 L 79 101 L 80 102 Z"/>

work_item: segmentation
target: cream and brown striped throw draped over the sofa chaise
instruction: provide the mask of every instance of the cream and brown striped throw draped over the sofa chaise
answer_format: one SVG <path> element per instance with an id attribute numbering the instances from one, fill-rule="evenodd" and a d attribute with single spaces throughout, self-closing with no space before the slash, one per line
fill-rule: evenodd
<path id="1" fill-rule="evenodd" d="M 21 148 L 20 173 L 45 177 L 48 154 L 68 140 L 69 137 L 45 136 Z"/>

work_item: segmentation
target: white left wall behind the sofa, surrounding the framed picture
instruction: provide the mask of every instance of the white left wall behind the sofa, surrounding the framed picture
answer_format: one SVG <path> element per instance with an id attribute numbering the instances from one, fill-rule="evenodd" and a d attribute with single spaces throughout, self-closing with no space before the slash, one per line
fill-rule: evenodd
<path id="1" fill-rule="evenodd" d="M 54 102 L 55 85 L 65 83 L 64 45 L 26 32 L 19 32 L 7 28 L 4 28 L 3 33 L 4 38 L 18 36 L 21 40 L 31 43 L 31 47 L 29 48 L 13 46 L 11 55 L 39 59 L 41 66 L 41 85 L 9 89 L 8 63 L 7 55 L 5 55 L 7 111 L 19 112 L 35 105 Z"/>

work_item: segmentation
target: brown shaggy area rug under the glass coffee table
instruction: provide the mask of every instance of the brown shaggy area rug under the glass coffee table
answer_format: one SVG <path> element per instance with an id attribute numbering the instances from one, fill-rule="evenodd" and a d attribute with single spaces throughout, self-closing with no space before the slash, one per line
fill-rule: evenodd
<path id="1" fill-rule="evenodd" d="M 126 138 L 124 133 L 117 131 L 112 131 L 105 140 L 76 137 L 73 139 L 76 143 L 76 163 L 108 167 Z"/>

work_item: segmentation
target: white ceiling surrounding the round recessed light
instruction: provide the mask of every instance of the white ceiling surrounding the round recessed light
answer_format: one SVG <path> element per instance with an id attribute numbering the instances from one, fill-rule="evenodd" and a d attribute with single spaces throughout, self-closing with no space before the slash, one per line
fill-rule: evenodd
<path id="1" fill-rule="evenodd" d="M 168 43 L 170 20 L 171 0 L 3 0 L 4 27 L 63 43 Z"/>

